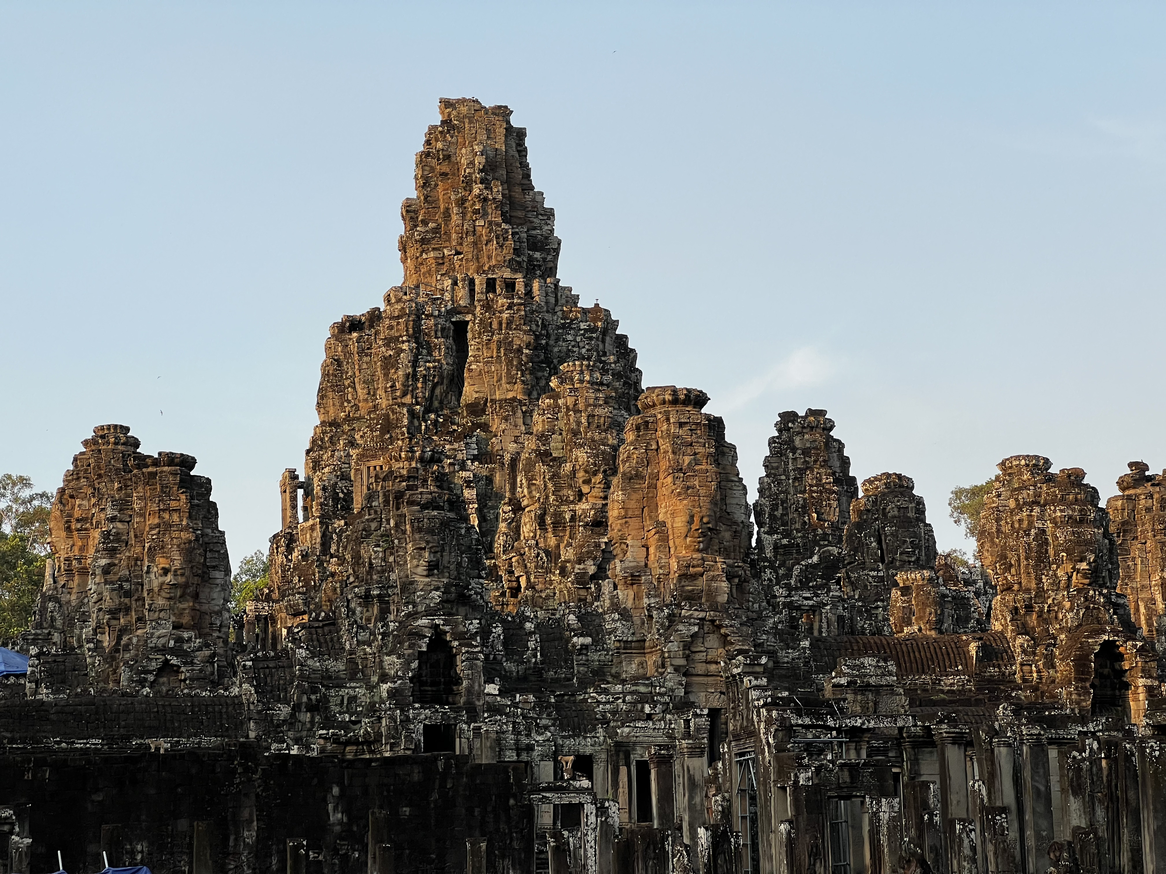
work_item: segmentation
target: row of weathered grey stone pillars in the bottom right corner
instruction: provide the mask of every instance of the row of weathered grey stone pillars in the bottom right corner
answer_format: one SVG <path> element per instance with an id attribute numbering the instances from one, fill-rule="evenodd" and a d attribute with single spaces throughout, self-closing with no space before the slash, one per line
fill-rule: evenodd
<path id="1" fill-rule="evenodd" d="M 1023 731 L 1019 742 L 981 738 L 972 754 L 972 740 L 964 728 L 934 729 L 939 797 L 922 797 L 926 781 L 904 783 L 913 790 L 904 797 L 907 846 L 951 874 L 1044 874 L 1070 858 L 1098 871 L 1166 871 L 1164 745 L 1114 739 L 1080 749 Z M 926 742 L 905 739 L 908 770 L 912 747 Z"/>

